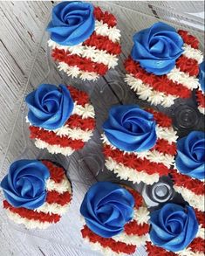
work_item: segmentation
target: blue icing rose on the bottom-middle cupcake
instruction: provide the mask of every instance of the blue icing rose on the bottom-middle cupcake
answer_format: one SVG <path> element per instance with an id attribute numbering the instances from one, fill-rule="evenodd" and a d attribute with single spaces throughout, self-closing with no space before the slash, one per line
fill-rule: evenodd
<path id="1" fill-rule="evenodd" d="M 133 196 L 116 183 L 99 182 L 85 194 L 80 213 L 92 232 L 111 238 L 133 218 Z"/>

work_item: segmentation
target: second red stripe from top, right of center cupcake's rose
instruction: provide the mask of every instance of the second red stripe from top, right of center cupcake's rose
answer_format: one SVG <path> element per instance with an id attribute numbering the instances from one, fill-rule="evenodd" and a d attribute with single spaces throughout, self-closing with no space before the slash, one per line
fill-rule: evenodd
<path id="1" fill-rule="evenodd" d="M 156 144 L 154 145 L 154 148 L 151 150 L 154 150 L 154 149 L 163 154 L 174 156 L 176 154 L 176 143 L 172 142 L 172 144 L 169 144 L 164 139 L 158 139 Z"/>

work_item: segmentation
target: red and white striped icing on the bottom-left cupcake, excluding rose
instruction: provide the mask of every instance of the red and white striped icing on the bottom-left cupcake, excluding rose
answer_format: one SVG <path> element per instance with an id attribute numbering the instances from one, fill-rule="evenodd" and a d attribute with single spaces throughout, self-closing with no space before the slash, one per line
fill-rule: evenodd
<path id="1" fill-rule="evenodd" d="M 65 176 L 65 170 L 51 161 L 41 161 L 49 170 L 46 182 L 47 195 L 44 204 L 34 210 L 14 207 L 3 200 L 3 208 L 10 220 L 23 224 L 27 229 L 46 229 L 57 223 L 68 210 L 72 201 L 72 185 Z"/>

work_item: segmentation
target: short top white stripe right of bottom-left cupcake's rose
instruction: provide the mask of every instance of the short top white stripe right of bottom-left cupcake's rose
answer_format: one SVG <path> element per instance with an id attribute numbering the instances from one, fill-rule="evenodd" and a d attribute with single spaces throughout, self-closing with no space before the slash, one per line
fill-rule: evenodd
<path id="1" fill-rule="evenodd" d="M 72 185 L 66 176 L 60 183 L 56 183 L 54 182 L 54 180 L 49 178 L 46 182 L 46 190 L 55 190 L 60 194 L 63 194 L 64 192 L 68 191 L 72 195 Z"/>

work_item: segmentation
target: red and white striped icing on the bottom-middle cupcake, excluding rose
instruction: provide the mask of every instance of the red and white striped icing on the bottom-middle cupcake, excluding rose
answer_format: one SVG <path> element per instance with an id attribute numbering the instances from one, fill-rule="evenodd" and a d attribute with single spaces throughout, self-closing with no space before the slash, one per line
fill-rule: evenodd
<path id="1" fill-rule="evenodd" d="M 108 255 L 133 254 L 137 246 L 144 246 L 148 240 L 149 211 L 143 203 L 140 194 L 131 188 L 127 188 L 134 198 L 133 219 L 126 223 L 124 231 L 120 234 L 106 239 L 92 232 L 87 225 L 81 230 L 82 236 L 93 250 L 99 250 Z"/>

